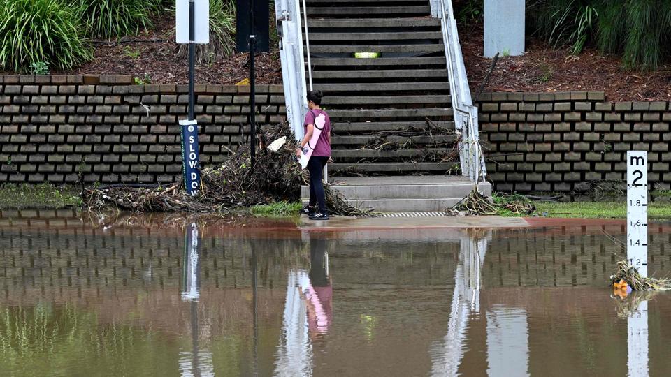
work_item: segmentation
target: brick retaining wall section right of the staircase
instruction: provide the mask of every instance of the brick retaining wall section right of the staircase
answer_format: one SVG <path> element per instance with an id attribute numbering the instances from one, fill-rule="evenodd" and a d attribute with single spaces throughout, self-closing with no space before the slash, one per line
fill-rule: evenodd
<path id="1" fill-rule="evenodd" d="M 492 93 L 480 98 L 487 168 L 497 191 L 589 191 L 625 182 L 626 152 L 648 151 L 648 177 L 671 188 L 668 102 L 605 101 L 602 92 Z"/>

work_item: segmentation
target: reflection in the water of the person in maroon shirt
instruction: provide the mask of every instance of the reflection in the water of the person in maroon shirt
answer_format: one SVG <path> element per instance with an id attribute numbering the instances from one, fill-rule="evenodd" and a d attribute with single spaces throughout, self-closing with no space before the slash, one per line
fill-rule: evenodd
<path id="1" fill-rule="evenodd" d="M 310 283 L 308 326 L 310 332 L 326 332 L 331 325 L 333 287 L 329 278 L 329 260 L 324 239 L 310 239 Z"/>

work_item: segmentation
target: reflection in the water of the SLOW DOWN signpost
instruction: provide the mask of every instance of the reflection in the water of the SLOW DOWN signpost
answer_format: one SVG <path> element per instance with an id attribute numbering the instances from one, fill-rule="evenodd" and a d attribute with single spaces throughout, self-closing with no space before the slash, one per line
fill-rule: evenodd
<path id="1" fill-rule="evenodd" d="M 180 372 L 182 376 L 214 376 L 212 353 L 199 346 L 198 302 L 201 297 L 200 253 L 201 239 L 198 225 L 189 224 L 185 228 L 184 258 L 182 258 L 182 300 L 189 302 L 191 309 L 192 348 L 180 350 Z"/>

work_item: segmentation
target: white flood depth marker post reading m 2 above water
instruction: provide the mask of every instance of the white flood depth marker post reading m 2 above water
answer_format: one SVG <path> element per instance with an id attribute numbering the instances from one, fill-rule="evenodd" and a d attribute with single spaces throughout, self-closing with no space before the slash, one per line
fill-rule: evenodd
<path id="1" fill-rule="evenodd" d="M 647 151 L 627 151 L 627 260 L 648 276 Z"/>

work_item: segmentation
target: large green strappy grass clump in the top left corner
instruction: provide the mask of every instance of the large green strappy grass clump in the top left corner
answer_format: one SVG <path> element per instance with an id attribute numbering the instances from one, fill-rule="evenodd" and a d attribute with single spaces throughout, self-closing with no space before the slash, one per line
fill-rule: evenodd
<path id="1" fill-rule="evenodd" d="M 64 0 L 0 1 L 0 68 L 25 73 L 31 64 L 69 69 L 93 59 L 76 7 Z"/>

